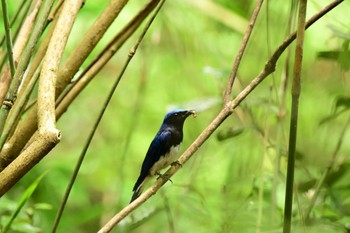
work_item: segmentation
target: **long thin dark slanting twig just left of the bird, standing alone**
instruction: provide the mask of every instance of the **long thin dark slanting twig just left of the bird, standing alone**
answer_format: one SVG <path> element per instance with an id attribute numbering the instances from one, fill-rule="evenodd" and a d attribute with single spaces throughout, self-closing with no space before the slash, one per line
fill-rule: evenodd
<path id="1" fill-rule="evenodd" d="M 76 163 L 76 165 L 75 165 L 75 168 L 74 168 L 72 177 L 71 177 L 71 179 L 70 179 L 70 181 L 69 181 L 69 184 L 68 184 L 68 186 L 67 186 L 67 188 L 66 188 L 66 191 L 65 191 L 65 193 L 64 193 L 64 197 L 63 197 L 63 199 L 62 199 L 60 208 L 59 208 L 59 210 L 58 210 L 58 212 L 57 212 L 57 215 L 56 215 L 56 218 L 55 218 L 55 222 L 54 222 L 54 225 L 53 225 L 53 229 L 52 229 L 52 233 L 56 232 L 56 230 L 57 230 L 57 227 L 58 227 L 58 224 L 59 224 L 60 219 L 61 219 L 61 217 L 62 217 L 64 208 L 65 208 L 65 206 L 66 206 L 66 204 L 67 204 L 69 194 L 70 194 L 70 192 L 71 192 L 71 190 L 72 190 L 72 187 L 73 187 L 73 185 L 74 185 L 74 182 L 75 182 L 75 180 L 76 180 L 76 178 L 77 178 L 77 176 L 78 176 L 80 167 L 81 167 L 81 165 L 82 165 L 82 163 L 83 163 L 83 161 L 84 161 L 84 159 L 85 159 L 86 152 L 87 152 L 87 150 L 88 150 L 88 148 L 89 148 L 89 146 L 90 146 L 90 144 L 91 144 L 91 141 L 92 141 L 92 139 L 93 139 L 93 137 L 94 137 L 94 135 L 95 135 L 96 129 L 97 129 L 98 125 L 99 125 L 100 122 L 101 122 L 101 119 L 102 119 L 102 117 L 103 117 L 103 115 L 104 115 L 104 112 L 105 112 L 105 110 L 107 109 L 108 104 L 109 104 L 110 100 L 112 99 L 113 94 L 114 94 L 116 88 L 118 87 L 118 84 L 119 84 L 120 80 L 122 79 L 122 77 L 123 77 L 123 75 L 124 75 L 124 73 L 125 73 L 127 67 L 129 66 L 129 63 L 130 63 L 131 59 L 134 57 L 134 55 L 135 55 L 135 53 L 136 53 L 136 51 L 137 51 L 137 49 L 138 49 L 138 47 L 139 47 L 139 45 L 140 45 L 142 39 L 143 39 L 144 36 L 146 35 L 146 32 L 148 31 L 149 27 L 151 26 L 151 24 L 152 24 L 152 22 L 153 22 L 155 16 L 156 16 L 157 13 L 159 12 L 159 10 L 160 10 L 161 6 L 163 5 L 163 3 L 164 3 L 164 0 L 163 0 L 163 1 L 160 1 L 160 3 L 159 3 L 159 5 L 158 5 L 157 9 L 155 10 L 154 15 L 151 17 L 151 19 L 149 20 L 149 22 L 146 24 L 144 30 L 142 31 L 140 37 L 138 38 L 138 40 L 137 40 L 137 42 L 136 42 L 136 44 L 131 48 L 131 50 L 130 50 L 130 52 L 129 52 L 129 54 L 128 54 L 128 58 L 127 58 L 127 60 L 126 60 L 126 62 L 125 62 L 125 64 L 124 64 L 122 70 L 120 71 L 120 74 L 118 75 L 117 79 L 115 80 L 115 82 L 114 82 L 114 84 L 113 84 L 113 86 L 112 86 L 112 88 L 111 88 L 111 90 L 110 90 L 110 92 L 109 92 L 109 94 L 108 94 L 108 96 L 107 96 L 107 98 L 106 98 L 106 100 L 105 100 L 103 106 L 102 106 L 101 112 L 100 112 L 100 114 L 98 115 L 98 118 L 96 119 L 96 122 L 95 122 L 94 126 L 92 127 L 92 129 L 91 129 L 91 131 L 90 131 L 90 134 L 89 134 L 89 136 L 88 136 L 88 139 L 86 140 L 86 143 L 85 143 L 85 145 L 84 145 L 84 148 L 83 148 L 83 150 L 81 151 L 80 156 L 79 156 L 79 158 L 78 158 L 78 161 L 77 161 L 77 163 Z"/>

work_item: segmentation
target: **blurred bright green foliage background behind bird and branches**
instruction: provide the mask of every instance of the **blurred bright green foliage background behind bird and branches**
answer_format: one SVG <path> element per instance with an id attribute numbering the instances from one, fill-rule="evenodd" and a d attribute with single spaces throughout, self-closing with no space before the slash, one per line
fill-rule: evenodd
<path id="1" fill-rule="evenodd" d="M 96 232 L 128 204 L 149 143 L 168 110 L 202 110 L 197 118 L 190 117 L 185 123 L 184 151 L 221 109 L 222 93 L 244 33 L 242 25 L 246 26 L 255 1 L 217 0 L 210 1 L 211 6 L 206 2 L 165 3 L 97 130 L 58 232 Z M 308 1 L 308 18 L 328 2 Z M 107 3 L 86 1 L 65 58 Z M 144 3 L 128 3 L 90 59 Z M 10 15 L 16 4 L 9 1 Z M 233 96 L 262 70 L 285 38 L 289 8 L 285 1 L 265 2 L 243 57 Z M 321 189 L 311 212 L 311 222 L 302 221 L 315 181 L 326 169 L 349 117 L 349 12 L 350 4 L 344 2 L 306 32 L 293 232 L 350 231 L 349 131 L 342 138 L 332 170 L 334 176 Z M 59 120 L 62 141 L 58 146 L 1 198 L 0 220 L 5 224 L 25 190 L 45 173 L 12 232 L 51 230 L 82 146 L 139 33 L 140 30 Z M 2 26 L 0 34 L 3 35 Z M 329 56 L 341 49 L 344 56 Z M 277 63 L 276 72 L 220 126 L 172 178 L 173 183 L 168 182 L 133 213 L 138 224 L 131 224 L 132 219 L 127 218 L 113 232 L 281 232 L 290 85 L 286 115 L 281 121 L 277 116 L 285 58 L 286 53 Z M 341 114 L 334 116 L 335 112 Z M 334 117 L 321 124 L 329 116 Z M 227 135 L 232 130 L 236 134 Z"/>

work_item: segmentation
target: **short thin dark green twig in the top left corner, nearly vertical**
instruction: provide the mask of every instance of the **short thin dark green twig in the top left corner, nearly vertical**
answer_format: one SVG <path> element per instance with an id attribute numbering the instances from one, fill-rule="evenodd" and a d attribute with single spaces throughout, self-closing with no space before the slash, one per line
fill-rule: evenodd
<path id="1" fill-rule="evenodd" d="M 9 16 L 8 16 L 8 11 L 7 11 L 6 0 L 1 0 L 1 6 L 2 6 L 5 35 L 6 35 L 7 57 L 9 59 L 11 76 L 13 77 L 15 75 L 16 67 L 15 67 L 15 61 L 13 60 L 12 37 L 11 37 L 11 32 L 10 32 L 10 23 L 9 23 Z M 1 130 L 0 130 L 0 135 L 1 135 Z"/>

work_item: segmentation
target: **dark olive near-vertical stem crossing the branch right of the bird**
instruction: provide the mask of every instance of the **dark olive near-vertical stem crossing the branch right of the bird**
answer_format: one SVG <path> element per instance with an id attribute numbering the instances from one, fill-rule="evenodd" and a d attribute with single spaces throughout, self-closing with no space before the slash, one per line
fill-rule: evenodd
<path id="1" fill-rule="evenodd" d="M 290 132 L 289 132 L 288 165 L 287 165 L 283 233 L 289 233 L 291 231 L 291 222 L 292 222 L 294 163 L 295 163 L 295 150 L 296 150 L 296 142 L 297 142 L 298 110 L 299 110 L 299 96 L 300 96 L 300 86 L 301 86 L 300 79 L 301 79 L 302 61 L 303 61 L 306 6 L 307 6 L 307 0 L 301 0 L 300 6 L 299 6 L 297 44 L 295 48 L 294 76 L 293 76 L 293 83 L 292 83 L 292 113 L 291 113 Z"/>

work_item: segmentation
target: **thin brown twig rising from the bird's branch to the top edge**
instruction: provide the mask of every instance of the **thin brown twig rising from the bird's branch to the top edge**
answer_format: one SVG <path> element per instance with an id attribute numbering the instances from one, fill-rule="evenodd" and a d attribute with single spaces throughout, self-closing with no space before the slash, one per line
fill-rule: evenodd
<path id="1" fill-rule="evenodd" d="M 258 18 L 258 15 L 259 15 L 259 12 L 260 12 L 260 9 L 261 9 L 263 2 L 264 2 L 264 0 L 259 0 L 257 2 L 256 7 L 254 9 L 254 12 L 252 14 L 252 17 L 250 18 L 247 30 L 244 34 L 241 47 L 238 50 L 238 54 L 236 56 L 236 59 L 235 59 L 234 65 L 233 65 L 233 69 L 230 73 L 230 77 L 228 78 L 227 85 L 226 85 L 226 90 L 225 90 L 225 95 L 224 95 L 224 103 L 225 104 L 227 104 L 232 98 L 231 97 L 232 87 L 233 87 L 233 83 L 234 83 L 236 75 L 237 75 L 239 64 L 241 63 L 244 50 L 247 47 L 250 35 L 252 34 L 256 19 Z"/>

